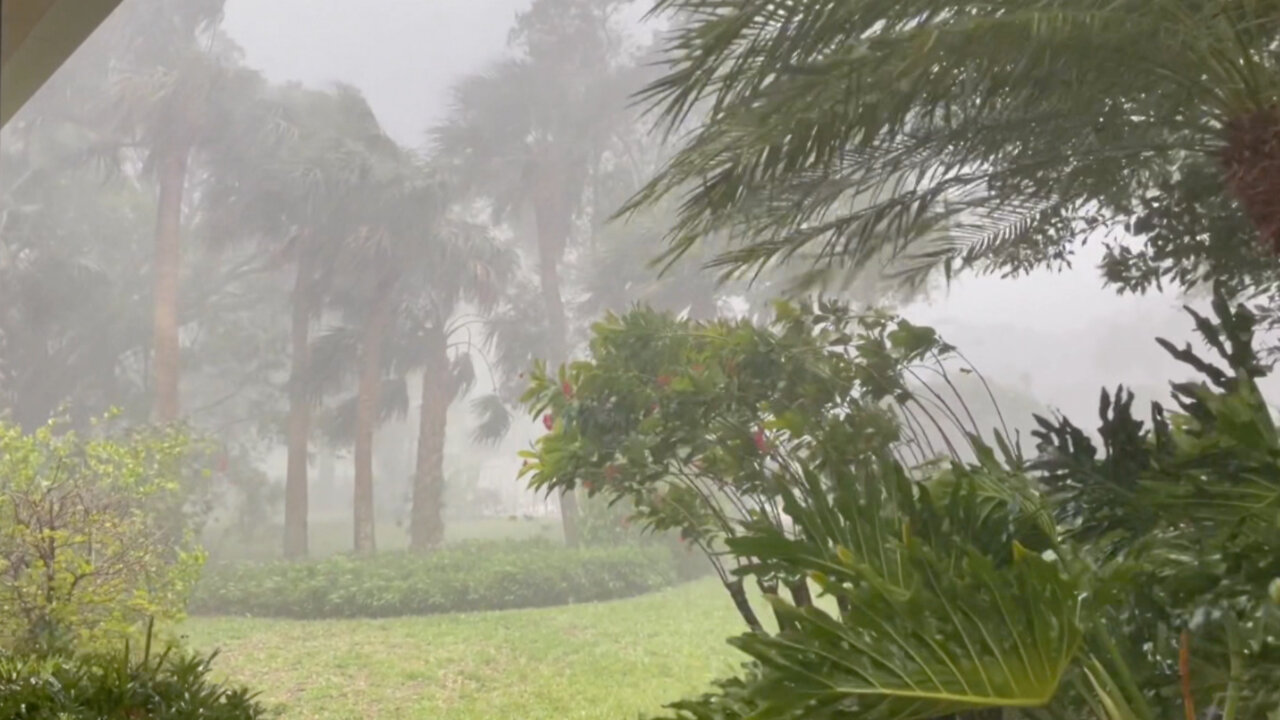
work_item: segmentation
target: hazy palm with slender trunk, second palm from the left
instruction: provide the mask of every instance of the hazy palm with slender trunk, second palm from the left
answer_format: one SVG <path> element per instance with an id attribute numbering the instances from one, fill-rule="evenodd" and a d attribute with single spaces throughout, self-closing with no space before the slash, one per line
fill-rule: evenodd
<path id="1" fill-rule="evenodd" d="M 381 131 L 358 91 L 285 86 L 271 92 L 260 119 L 274 126 L 261 141 L 218 155 L 219 168 L 207 204 L 225 218 L 214 231 L 223 238 L 250 228 L 252 242 L 274 260 L 294 268 L 289 295 L 289 410 L 285 421 L 288 466 L 284 491 L 284 555 L 307 553 L 307 457 L 312 393 L 311 324 L 321 309 L 325 278 L 337 249 L 356 231 L 349 218 L 370 154 Z M 370 146 L 369 143 L 372 142 Z"/>

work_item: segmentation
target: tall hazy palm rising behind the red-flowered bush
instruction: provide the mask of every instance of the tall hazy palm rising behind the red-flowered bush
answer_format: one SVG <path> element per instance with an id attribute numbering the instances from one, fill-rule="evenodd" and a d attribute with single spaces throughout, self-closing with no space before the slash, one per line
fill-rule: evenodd
<path id="1" fill-rule="evenodd" d="M 531 225 L 547 360 L 571 350 L 561 264 L 590 173 L 626 115 L 630 69 L 616 68 L 609 17 L 618 0 L 539 0 L 517 20 L 524 56 L 466 78 L 435 129 L 452 164 L 499 215 Z M 527 213 L 527 218 L 524 217 Z M 561 495 L 564 538 L 577 544 L 577 500 Z"/>

